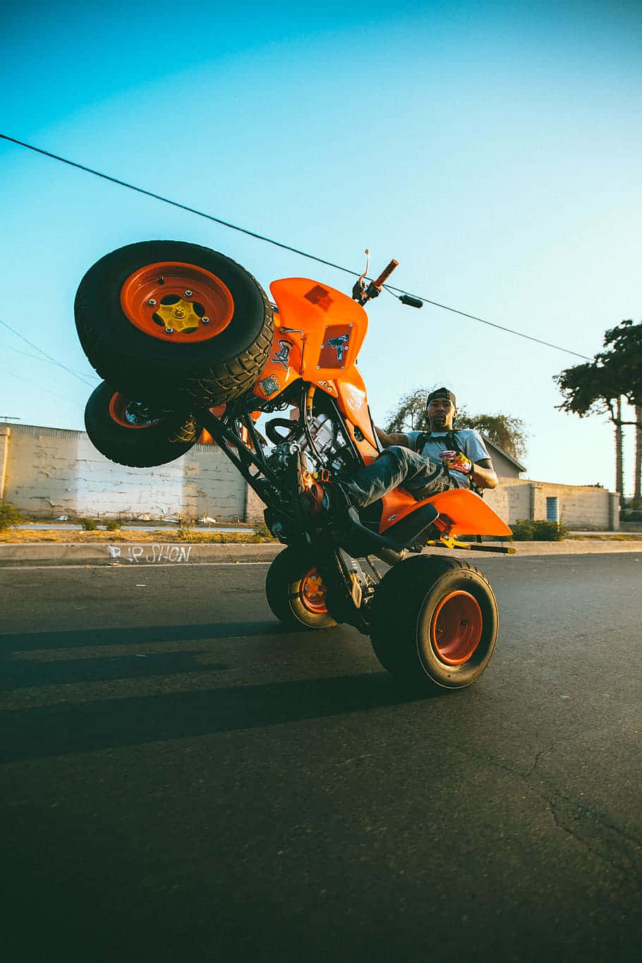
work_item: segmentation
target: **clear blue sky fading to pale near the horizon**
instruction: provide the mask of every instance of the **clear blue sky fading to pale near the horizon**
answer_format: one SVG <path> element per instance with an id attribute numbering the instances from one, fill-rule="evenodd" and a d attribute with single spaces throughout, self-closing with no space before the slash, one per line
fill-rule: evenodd
<path id="1" fill-rule="evenodd" d="M 0 132 L 498 325 L 592 356 L 640 320 L 639 3 L 84 4 L 0 13 Z M 83 427 L 73 325 L 104 253 L 221 250 L 264 287 L 346 274 L 0 142 L 0 415 Z M 523 418 L 527 475 L 614 483 L 612 430 L 555 410 L 578 363 L 383 295 L 360 357 L 375 421 L 448 383 Z M 632 431 L 626 449 L 632 487 Z"/>

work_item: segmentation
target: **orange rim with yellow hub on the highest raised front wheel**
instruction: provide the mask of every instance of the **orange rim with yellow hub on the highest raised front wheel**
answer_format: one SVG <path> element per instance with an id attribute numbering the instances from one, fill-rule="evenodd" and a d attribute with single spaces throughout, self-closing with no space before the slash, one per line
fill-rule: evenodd
<path id="1" fill-rule="evenodd" d="M 133 325 L 159 341 L 209 341 L 232 320 L 234 299 L 216 274 L 162 261 L 130 274 L 120 305 Z"/>

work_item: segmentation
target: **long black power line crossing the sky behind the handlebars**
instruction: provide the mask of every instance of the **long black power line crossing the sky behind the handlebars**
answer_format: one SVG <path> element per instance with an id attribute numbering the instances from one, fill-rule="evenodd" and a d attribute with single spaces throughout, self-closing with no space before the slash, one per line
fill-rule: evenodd
<path id="1" fill-rule="evenodd" d="M 316 254 L 310 254 L 308 251 L 300 250 L 298 247 L 292 247 L 291 245 L 283 244 L 281 241 L 275 241 L 273 238 L 266 237 L 264 234 L 258 234 L 256 231 L 250 231 L 246 227 L 241 227 L 239 224 L 231 223 L 231 221 L 223 221 L 221 218 L 216 218 L 212 214 L 207 214 L 204 211 L 198 210 L 198 208 L 190 207 L 188 204 L 181 204 L 180 201 L 173 200 L 172 198 L 164 195 L 155 194 L 153 191 L 147 191 L 145 188 L 141 188 L 136 184 L 130 184 L 127 181 L 120 180 L 118 177 L 113 177 L 111 174 L 106 174 L 101 170 L 89 168 L 85 164 L 79 164 L 77 161 L 71 161 L 66 157 L 61 157 L 59 154 L 52 153 L 49 150 L 43 150 L 41 147 L 36 147 L 32 143 L 18 141 L 13 137 L 9 137 L 7 134 L 0 134 L 0 139 L 9 141 L 10 143 L 15 143 L 20 147 L 26 147 L 28 150 L 33 150 L 38 154 L 42 154 L 44 157 L 50 157 L 52 160 L 60 161 L 62 164 L 66 164 L 71 168 L 85 170 L 87 173 L 93 174 L 95 177 L 101 177 L 103 180 L 110 181 L 113 184 L 118 184 L 120 187 L 125 187 L 129 191 L 136 191 L 138 194 L 142 194 L 147 197 L 153 197 L 155 200 L 161 200 L 164 204 L 170 204 L 172 207 L 177 207 L 182 211 L 187 211 L 189 214 L 196 215 L 196 217 L 205 218 L 207 221 L 214 221 L 217 224 L 221 224 L 223 227 L 228 227 L 230 230 L 239 231 L 248 237 L 255 238 L 257 241 L 264 241 L 266 244 L 271 244 L 274 247 L 281 247 L 283 250 L 292 251 L 294 254 L 298 254 L 300 257 L 305 257 L 310 261 L 317 261 L 319 264 L 324 264 L 329 268 L 334 268 L 337 271 L 350 274 L 352 277 L 362 276 L 360 272 L 351 271 L 349 268 L 345 268 L 341 264 L 335 264 L 333 261 L 327 261 L 325 258 L 319 257 Z M 543 341 L 541 338 L 535 338 L 530 334 L 525 334 L 524 331 L 516 331 L 512 327 L 505 327 L 504 325 L 497 325 L 492 321 L 485 321 L 483 318 L 478 318 L 474 314 L 468 314 L 466 311 L 459 311 L 457 308 L 449 307 L 447 304 L 440 304 L 439 301 L 433 301 L 429 298 L 424 298 L 423 295 L 411 295 L 410 292 L 404 291 L 403 288 L 395 288 L 387 284 L 384 285 L 384 287 L 391 294 L 397 291 L 402 295 L 410 295 L 410 297 L 422 300 L 426 304 L 432 304 L 434 307 L 442 308 L 445 311 L 451 311 L 453 314 L 461 315 L 463 318 L 470 318 L 472 321 L 479 322 L 481 325 L 495 327 L 500 331 L 505 331 L 507 334 L 514 334 L 519 338 L 526 338 L 528 341 L 534 341 L 536 344 L 544 345 L 547 348 L 553 348 L 555 351 L 564 351 L 566 354 L 573 354 L 575 357 L 583 358 L 586 361 L 592 360 L 585 354 L 579 354 L 578 351 L 571 351 L 568 348 L 562 348 L 560 345 L 552 344 L 551 341 Z"/>

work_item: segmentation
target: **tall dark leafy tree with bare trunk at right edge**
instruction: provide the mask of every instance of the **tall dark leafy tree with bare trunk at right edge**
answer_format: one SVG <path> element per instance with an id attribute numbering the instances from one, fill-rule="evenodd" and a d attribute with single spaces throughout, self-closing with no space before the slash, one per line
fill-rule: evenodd
<path id="1" fill-rule="evenodd" d="M 580 418 L 592 414 L 607 414 L 615 427 L 615 487 L 623 491 L 622 429 L 636 427 L 636 455 L 634 491 L 640 491 L 642 464 L 642 322 L 634 325 L 631 319 L 604 333 L 605 351 L 593 361 L 565 368 L 554 380 L 564 401 L 562 411 Z M 622 398 L 635 409 L 635 421 L 622 417 Z M 637 497 L 637 495 L 636 495 Z"/>

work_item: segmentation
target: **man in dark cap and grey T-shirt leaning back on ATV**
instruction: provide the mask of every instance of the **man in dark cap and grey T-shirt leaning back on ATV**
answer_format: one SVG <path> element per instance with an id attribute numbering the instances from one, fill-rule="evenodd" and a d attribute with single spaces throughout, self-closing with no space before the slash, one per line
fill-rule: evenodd
<path id="1" fill-rule="evenodd" d="M 444 387 L 432 391 L 426 400 L 430 431 L 375 429 L 383 452 L 349 478 L 299 489 L 304 505 L 313 514 L 349 505 L 365 508 L 399 486 L 417 501 L 449 488 L 495 488 L 498 478 L 480 434 L 455 431 L 455 414 L 453 393 Z"/>

